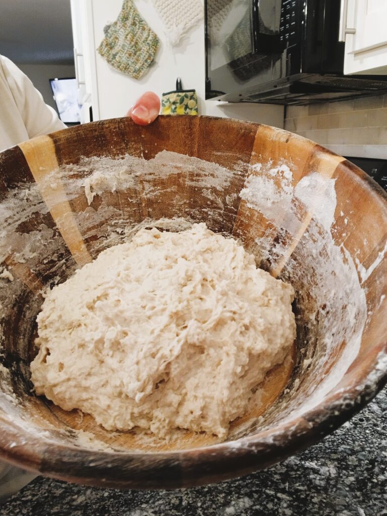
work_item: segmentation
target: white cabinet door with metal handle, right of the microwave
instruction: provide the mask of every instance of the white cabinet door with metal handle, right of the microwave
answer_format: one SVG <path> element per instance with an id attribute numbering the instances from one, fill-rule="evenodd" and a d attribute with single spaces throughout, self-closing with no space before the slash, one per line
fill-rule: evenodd
<path id="1" fill-rule="evenodd" d="M 342 0 L 345 74 L 387 75 L 387 0 Z"/>

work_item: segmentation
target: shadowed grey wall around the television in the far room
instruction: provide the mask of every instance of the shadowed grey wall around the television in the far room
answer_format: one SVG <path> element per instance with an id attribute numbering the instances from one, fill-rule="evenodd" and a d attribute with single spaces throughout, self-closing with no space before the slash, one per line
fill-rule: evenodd
<path id="1" fill-rule="evenodd" d="M 43 95 L 44 102 L 56 109 L 50 79 L 55 77 L 75 77 L 74 66 L 71 65 L 21 65 L 18 67 L 29 77 L 34 86 Z"/>

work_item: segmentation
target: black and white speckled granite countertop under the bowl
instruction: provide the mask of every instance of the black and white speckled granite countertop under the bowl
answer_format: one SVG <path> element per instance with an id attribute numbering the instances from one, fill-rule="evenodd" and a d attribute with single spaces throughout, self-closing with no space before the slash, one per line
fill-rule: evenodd
<path id="1" fill-rule="evenodd" d="M 1 516 L 387 516 L 387 388 L 333 434 L 252 475 L 173 491 L 119 491 L 37 477 Z"/>

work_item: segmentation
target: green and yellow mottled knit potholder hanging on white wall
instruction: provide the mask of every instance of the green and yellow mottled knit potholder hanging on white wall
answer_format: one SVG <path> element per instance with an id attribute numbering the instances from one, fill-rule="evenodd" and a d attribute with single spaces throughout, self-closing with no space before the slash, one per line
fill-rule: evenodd
<path id="1" fill-rule="evenodd" d="M 151 66 L 159 40 L 140 17 L 133 0 L 125 0 L 119 17 L 104 28 L 105 37 L 98 52 L 106 61 L 127 75 L 139 79 Z"/>

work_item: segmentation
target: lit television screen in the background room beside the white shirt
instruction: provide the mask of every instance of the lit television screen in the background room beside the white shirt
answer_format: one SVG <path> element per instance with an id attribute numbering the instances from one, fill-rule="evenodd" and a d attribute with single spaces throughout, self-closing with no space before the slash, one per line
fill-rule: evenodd
<path id="1" fill-rule="evenodd" d="M 80 123 L 76 79 L 50 79 L 50 85 L 60 120 L 65 123 Z"/>

